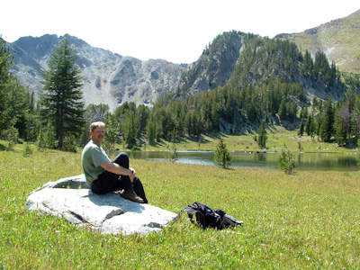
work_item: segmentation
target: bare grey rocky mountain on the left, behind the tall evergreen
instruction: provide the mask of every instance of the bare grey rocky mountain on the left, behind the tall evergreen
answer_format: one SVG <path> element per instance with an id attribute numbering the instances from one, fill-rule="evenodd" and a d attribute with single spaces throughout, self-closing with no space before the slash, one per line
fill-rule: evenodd
<path id="1" fill-rule="evenodd" d="M 42 90 L 40 72 L 48 68 L 49 55 L 59 39 L 57 35 L 44 35 L 9 43 L 9 48 L 15 50 L 12 72 L 35 93 Z M 105 103 L 113 110 L 124 102 L 153 103 L 159 94 L 177 84 L 187 67 L 161 59 L 122 57 L 76 37 L 68 39 L 76 47 L 77 65 L 82 69 L 85 105 Z"/>

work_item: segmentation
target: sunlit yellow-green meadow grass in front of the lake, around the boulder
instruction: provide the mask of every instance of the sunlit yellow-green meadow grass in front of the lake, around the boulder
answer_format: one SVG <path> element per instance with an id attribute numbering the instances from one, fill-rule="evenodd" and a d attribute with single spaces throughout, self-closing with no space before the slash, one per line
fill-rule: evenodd
<path id="1" fill-rule="evenodd" d="M 101 235 L 29 212 L 32 190 L 81 174 L 80 154 L 0 151 L 0 269 L 355 269 L 359 172 L 221 169 L 132 159 L 151 204 L 203 202 L 243 220 L 202 230 L 183 214 L 162 233 Z M 344 267 L 344 268 L 343 268 Z"/>

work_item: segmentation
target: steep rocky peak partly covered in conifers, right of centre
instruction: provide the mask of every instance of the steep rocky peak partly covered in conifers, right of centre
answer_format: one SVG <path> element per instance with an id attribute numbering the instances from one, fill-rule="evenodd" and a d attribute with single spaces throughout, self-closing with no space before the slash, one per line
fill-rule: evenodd
<path id="1" fill-rule="evenodd" d="M 188 94 L 224 85 L 241 90 L 281 81 L 302 85 L 309 101 L 314 96 L 324 100 L 342 99 L 346 85 L 335 79 L 335 75 L 330 82 L 325 76 L 303 72 L 302 62 L 302 53 L 289 40 L 268 39 L 241 31 L 224 32 L 183 73 L 170 96 L 185 98 Z M 325 66 L 329 67 L 328 61 Z"/>

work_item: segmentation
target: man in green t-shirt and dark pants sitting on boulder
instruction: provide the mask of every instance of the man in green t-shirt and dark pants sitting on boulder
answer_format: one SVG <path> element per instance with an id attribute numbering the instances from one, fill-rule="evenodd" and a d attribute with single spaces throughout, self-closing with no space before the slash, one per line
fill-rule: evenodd
<path id="1" fill-rule="evenodd" d="M 89 133 L 91 139 L 83 149 L 81 163 L 91 190 L 98 194 L 115 191 L 130 201 L 148 203 L 136 171 L 129 167 L 128 155 L 121 153 L 110 161 L 101 147 L 105 124 L 102 121 L 93 122 Z"/>

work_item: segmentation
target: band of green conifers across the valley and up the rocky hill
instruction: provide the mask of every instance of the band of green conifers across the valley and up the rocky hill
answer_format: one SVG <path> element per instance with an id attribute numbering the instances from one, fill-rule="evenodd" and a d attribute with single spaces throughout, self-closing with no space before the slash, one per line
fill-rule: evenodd
<path id="1" fill-rule="evenodd" d="M 257 130 L 259 148 L 266 148 L 266 126 L 293 123 L 299 136 L 318 136 L 341 146 L 356 144 L 360 132 L 360 97 L 352 91 L 343 101 L 307 100 L 302 85 L 292 77 L 324 79 L 328 85 L 340 79 L 335 63 L 318 53 L 313 60 L 289 41 L 247 36 L 247 46 L 228 83 L 210 91 L 173 98 L 160 96 L 153 107 L 123 103 L 114 112 L 106 104 L 82 100 L 76 50 L 67 37 L 60 40 L 42 73 L 43 94 L 35 101 L 30 89 L 9 72 L 14 53 L 0 39 L 0 129 L 11 143 L 17 139 L 36 141 L 39 148 L 75 151 L 85 144 L 92 121 L 107 124 L 105 148 L 115 143 L 129 148 L 161 139 L 199 139 L 219 131 L 239 133 L 246 126 Z M 352 77 L 353 79 L 353 77 Z M 350 81 L 350 80 L 349 80 Z M 358 86 L 358 81 L 353 81 Z M 230 127 L 230 129 L 229 129 Z"/>

